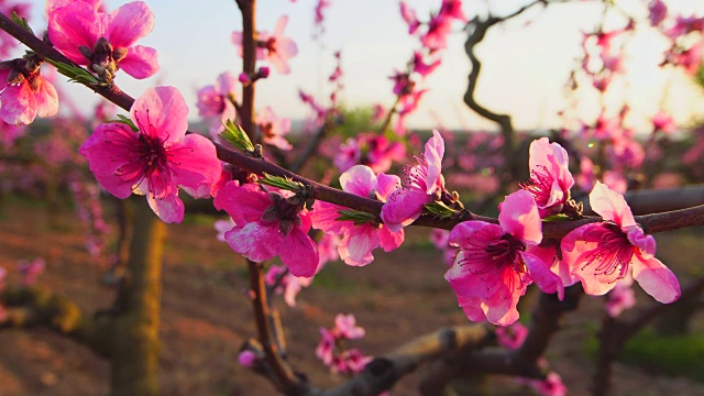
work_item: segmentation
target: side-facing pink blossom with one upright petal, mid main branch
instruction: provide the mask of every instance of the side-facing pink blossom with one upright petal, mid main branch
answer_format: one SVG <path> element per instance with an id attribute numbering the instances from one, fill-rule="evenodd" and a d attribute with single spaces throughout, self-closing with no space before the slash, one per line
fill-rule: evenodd
<path id="1" fill-rule="evenodd" d="M 443 154 L 444 141 L 440 132 L 432 131 L 425 154 L 416 157 L 418 165 L 406 169 L 403 187 L 392 193 L 382 208 L 382 220 L 388 230 L 397 232 L 416 221 L 425 204 L 433 201 L 444 190 Z"/>

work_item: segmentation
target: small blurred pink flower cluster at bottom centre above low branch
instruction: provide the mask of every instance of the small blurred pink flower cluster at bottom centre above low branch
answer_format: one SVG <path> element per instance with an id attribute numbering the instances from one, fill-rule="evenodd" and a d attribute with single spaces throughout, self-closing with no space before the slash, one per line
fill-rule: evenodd
<path id="1" fill-rule="evenodd" d="M 321 339 L 316 348 L 316 356 L 333 373 L 358 374 L 373 358 L 364 355 L 359 349 L 345 348 L 344 342 L 361 339 L 364 333 L 352 314 L 338 314 L 332 329 L 320 328 Z"/>

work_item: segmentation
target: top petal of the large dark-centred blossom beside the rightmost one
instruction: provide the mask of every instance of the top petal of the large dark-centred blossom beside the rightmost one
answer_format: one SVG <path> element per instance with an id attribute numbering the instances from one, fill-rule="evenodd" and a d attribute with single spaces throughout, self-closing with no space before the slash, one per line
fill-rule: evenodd
<path id="1" fill-rule="evenodd" d="M 542 223 L 532 195 L 518 190 L 506 197 L 501 206 L 498 222 L 505 232 L 527 244 L 542 241 Z"/>

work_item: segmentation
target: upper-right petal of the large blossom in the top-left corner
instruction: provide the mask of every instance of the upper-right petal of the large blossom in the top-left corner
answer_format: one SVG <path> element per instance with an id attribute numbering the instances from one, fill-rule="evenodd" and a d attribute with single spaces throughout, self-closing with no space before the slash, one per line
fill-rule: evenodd
<path id="1" fill-rule="evenodd" d="M 114 48 L 127 48 L 154 29 L 154 14 L 143 1 L 121 6 L 110 14 L 106 38 Z"/>

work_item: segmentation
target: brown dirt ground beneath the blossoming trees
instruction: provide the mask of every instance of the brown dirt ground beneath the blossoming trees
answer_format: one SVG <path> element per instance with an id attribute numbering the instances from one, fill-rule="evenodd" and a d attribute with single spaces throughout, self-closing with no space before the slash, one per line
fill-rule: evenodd
<path id="1" fill-rule="evenodd" d="M 6 205 L 0 218 L 0 266 L 13 273 L 19 260 L 42 256 L 47 268 L 40 286 L 73 298 L 87 312 L 108 307 L 113 290 L 97 282 L 102 271 L 82 248 L 80 224 L 70 209 L 55 216 L 59 226 L 50 227 L 43 206 L 16 200 Z M 338 312 L 353 312 L 366 328 L 366 338 L 354 345 L 369 354 L 468 322 L 443 279 L 440 253 L 425 242 L 428 230 L 411 230 L 408 238 L 415 243 L 389 254 L 376 252 L 376 260 L 363 268 L 329 264 L 299 295 L 296 308 L 277 299 L 290 361 L 316 386 L 344 381 L 329 374 L 314 353 L 318 329 L 331 327 Z M 675 272 L 686 263 L 701 263 L 704 248 L 691 233 L 662 235 L 659 243 L 659 257 Z M 276 394 L 266 380 L 237 363 L 239 348 L 255 330 L 245 287 L 242 258 L 216 240 L 211 220 L 198 217 L 168 227 L 161 328 L 164 395 Z M 652 301 L 640 292 L 638 300 Z M 593 363 L 585 340 L 595 329 L 602 304 L 583 299 L 547 352 L 550 367 L 562 375 L 570 395 L 588 394 Z M 697 320 L 704 322 L 701 316 Z M 704 384 L 623 364 L 616 364 L 614 380 L 614 395 L 704 395 Z M 410 376 L 391 394 L 415 395 L 417 381 L 417 375 Z M 108 364 L 68 339 L 44 329 L 0 331 L 0 396 L 107 395 L 108 384 Z M 494 384 L 492 394 L 529 394 L 513 378 L 495 378 Z"/>

